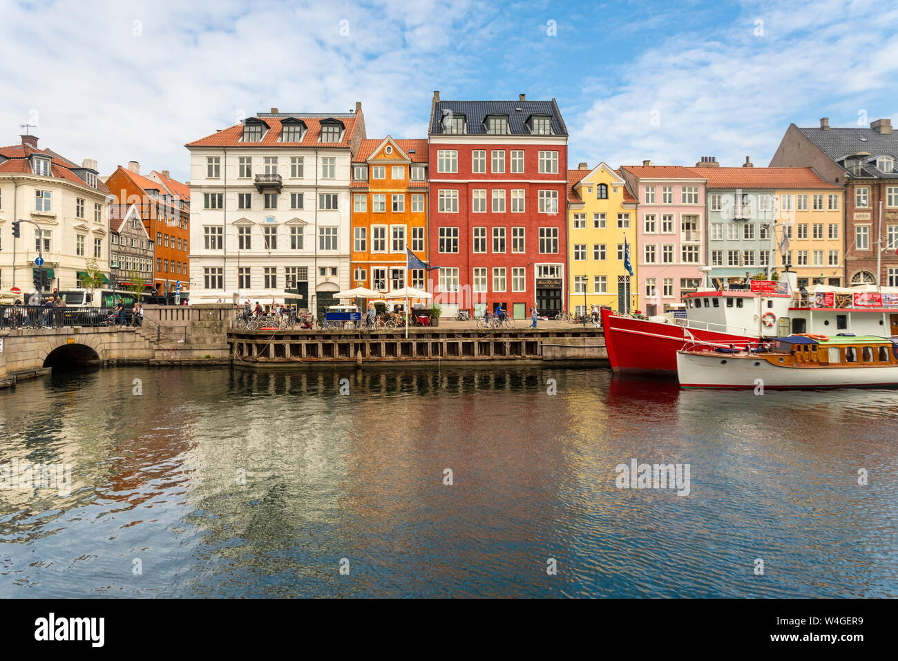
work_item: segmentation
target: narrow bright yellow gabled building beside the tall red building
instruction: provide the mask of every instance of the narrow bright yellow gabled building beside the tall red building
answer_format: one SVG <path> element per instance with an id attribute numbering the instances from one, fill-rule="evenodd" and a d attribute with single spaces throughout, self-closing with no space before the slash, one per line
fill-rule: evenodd
<path id="1" fill-rule="evenodd" d="M 637 199 L 605 163 L 568 170 L 568 313 L 637 307 Z M 624 269 L 624 239 L 633 275 Z"/>

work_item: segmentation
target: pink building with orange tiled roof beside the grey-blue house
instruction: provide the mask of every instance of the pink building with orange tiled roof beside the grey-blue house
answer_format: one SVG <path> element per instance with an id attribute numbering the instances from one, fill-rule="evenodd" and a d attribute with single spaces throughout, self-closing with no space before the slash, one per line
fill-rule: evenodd
<path id="1" fill-rule="evenodd" d="M 705 262 L 705 188 L 695 168 L 680 165 L 621 166 L 639 200 L 636 266 L 639 310 L 665 313 L 683 293 L 701 284 Z"/>

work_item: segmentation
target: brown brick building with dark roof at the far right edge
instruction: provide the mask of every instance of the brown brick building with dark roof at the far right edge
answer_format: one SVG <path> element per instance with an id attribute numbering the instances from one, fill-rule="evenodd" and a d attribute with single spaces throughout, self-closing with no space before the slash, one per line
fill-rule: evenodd
<path id="1" fill-rule="evenodd" d="M 845 188 L 845 284 L 898 286 L 898 134 L 891 119 L 869 128 L 790 124 L 771 166 L 813 167 Z M 878 268 L 878 272 L 877 272 Z"/>

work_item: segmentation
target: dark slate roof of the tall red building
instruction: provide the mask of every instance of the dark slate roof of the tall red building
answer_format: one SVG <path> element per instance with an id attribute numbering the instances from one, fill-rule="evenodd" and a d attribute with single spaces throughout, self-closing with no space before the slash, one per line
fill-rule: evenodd
<path id="1" fill-rule="evenodd" d="M 521 110 L 517 110 L 520 108 Z M 530 129 L 524 124 L 531 115 L 550 115 L 552 135 L 567 136 L 568 127 L 561 119 L 561 111 L 554 99 L 551 101 L 437 101 L 428 135 L 443 135 L 440 121 L 444 110 L 464 115 L 468 132 L 464 135 L 488 135 L 484 120 L 488 115 L 507 115 L 511 136 L 530 136 Z"/>

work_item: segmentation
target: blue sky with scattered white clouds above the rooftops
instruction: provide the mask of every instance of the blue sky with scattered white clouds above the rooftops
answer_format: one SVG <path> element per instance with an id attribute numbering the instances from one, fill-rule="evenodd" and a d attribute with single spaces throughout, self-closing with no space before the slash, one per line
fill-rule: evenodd
<path id="1" fill-rule="evenodd" d="M 555 97 L 568 165 L 770 162 L 789 122 L 898 119 L 890 0 L 326 4 L 0 0 L 0 143 L 187 178 L 184 143 L 276 106 L 362 101 L 426 137 L 444 99 Z M 898 121 L 894 121 L 898 124 Z"/>

